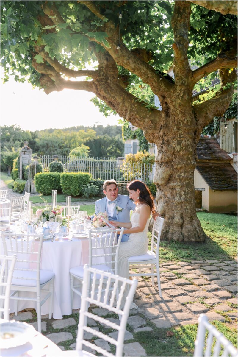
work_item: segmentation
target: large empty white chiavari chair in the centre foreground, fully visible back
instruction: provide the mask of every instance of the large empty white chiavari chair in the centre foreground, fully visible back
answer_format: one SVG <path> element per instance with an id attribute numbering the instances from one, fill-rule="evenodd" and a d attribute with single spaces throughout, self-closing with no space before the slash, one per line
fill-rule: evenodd
<path id="1" fill-rule="evenodd" d="M 91 277 L 92 276 L 92 277 Z M 95 295 L 95 282 L 99 280 L 100 286 L 97 290 L 97 294 Z M 102 289 L 102 284 L 104 281 L 107 281 L 106 289 Z M 95 268 L 90 268 L 87 265 L 84 267 L 83 274 L 83 290 L 81 296 L 81 308 L 80 308 L 80 316 L 79 316 L 79 325 L 77 332 L 77 340 L 76 340 L 76 350 L 75 351 L 64 351 L 62 352 L 63 356 L 95 356 L 92 353 L 83 351 L 83 345 L 92 348 L 98 353 L 101 353 L 102 356 L 122 356 L 123 345 L 124 345 L 124 336 L 126 332 L 126 324 L 127 319 L 130 312 L 131 302 L 133 301 L 133 296 L 135 295 L 136 287 L 138 281 L 136 279 L 129 280 L 123 278 L 118 275 L 114 275 L 109 272 L 105 272 L 102 270 L 97 270 Z M 111 289 L 114 293 L 111 294 Z M 114 299 L 116 291 L 119 289 L 120 293 L 118 296 L 118 300 L 116 306 L 114 306 Z M 121 306 L 122 296 L 127 293 L 127 298 L 124 306 Z M 111 295 L 111 298 L 110 298 Z M 95 298 L 96 296 L 96 298 Z M 108 310 L 109 312 L 114 312 L 118 314 L 119 317 L 119 325 L 115 322 L 111 322 L 106 318 L 97 316 L 92 312 L 88 312 L 88 306 L 90 304 L 95 304 L 103 309 Z M 123 310 L 122 310 L 123 308 Z M 118 331 L 117 338 L 110 337 L 105 335 L 100 331 L 97 331 L 89 326 L 87 326 L 87 318 L 92 318 L 94 321 L 99 322 L 107 326 L 107 328 L 113 328 Z M 97 346 L 92 341 L 87 341 L 83 339 L 84 331 L 92 333 L 95 337 L 100 337 L 103 340 L 112 343 L 116 346 L 116 353 L 112 355 L 112 353 L 106 351 L 100 346 Z"/>

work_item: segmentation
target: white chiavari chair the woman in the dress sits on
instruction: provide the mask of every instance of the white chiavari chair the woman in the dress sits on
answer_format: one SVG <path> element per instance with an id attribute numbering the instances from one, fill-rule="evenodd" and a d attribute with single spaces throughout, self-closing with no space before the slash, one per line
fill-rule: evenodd
<path id="1" fill-rule="evenodd" d="M 131 273 L 130 276 L 151 276 L 152 286 L 154 283 L 154 276 L 157 277 L 159 296 L 162 296 L 161 285 L 160 285 L 160 275 L 159 275 L 159 242 L 161 231 L 164 223 L 164 218 L 157 217 L 156 221 L 153 223 L 152 237 L 151 237 L 151 249 L 146 252 L 146 254 L 140 256 L 132 256 L 128 258 L 128 269 L 130 265 L 133 269 L 138 269 L 139 273 Z M 150 273 L 142 273 L 142 268 L 148 268 L 151 266 Z M 156 267 L 156 272 L 154 273 L 154 266 Z"/>

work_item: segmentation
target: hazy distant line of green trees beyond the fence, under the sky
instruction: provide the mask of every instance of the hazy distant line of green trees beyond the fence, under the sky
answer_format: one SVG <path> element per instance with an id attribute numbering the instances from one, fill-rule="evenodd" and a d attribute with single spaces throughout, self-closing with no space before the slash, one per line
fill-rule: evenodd
<path id="1" fill-rule="evenodd" d="M 70 151 L 85 145 L 90 157 L 124 155 L 122 129 L 119 125 L 73 126 L 65 129 L 22 130 L 18 125 L 1 126 L 1 171 L 9 170 L 10 161 L 18 156 L 23 141 L 36 155 L 68 156 Z M 80 152 L 80 150 L 79 150 Z"/>

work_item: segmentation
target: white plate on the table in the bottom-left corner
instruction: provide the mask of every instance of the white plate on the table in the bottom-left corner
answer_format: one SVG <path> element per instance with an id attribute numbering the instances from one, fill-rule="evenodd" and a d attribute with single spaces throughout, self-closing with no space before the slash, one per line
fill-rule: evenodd
<path id="1" fill-rule="evenodd" d="M 12 321 L 1 323 L 1 348 L 24 345 L 36 333 L 34 327 L 25 322 Z"/>

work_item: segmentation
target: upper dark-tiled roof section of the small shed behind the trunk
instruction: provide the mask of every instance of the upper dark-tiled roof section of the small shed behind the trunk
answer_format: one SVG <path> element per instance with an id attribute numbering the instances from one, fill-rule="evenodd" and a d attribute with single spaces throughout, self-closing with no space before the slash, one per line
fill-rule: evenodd
<path id="1" fill-rule="evenodd" d="M 198 160 L 231 161 L 232 158 L 222 150 L 215 139 L 201 137 L 197 143 Z"/>

